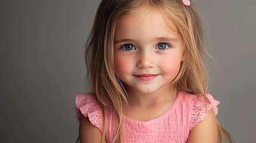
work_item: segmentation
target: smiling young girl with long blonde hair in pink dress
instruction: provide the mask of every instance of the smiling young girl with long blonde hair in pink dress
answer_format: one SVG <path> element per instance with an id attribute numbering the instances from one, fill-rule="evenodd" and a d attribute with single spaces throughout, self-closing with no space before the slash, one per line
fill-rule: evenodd
<path id="1" fill-rule="evenodd" d="M 223 142 L 189 0 L 103 0 L 87 42 L 80 142 Z"/>

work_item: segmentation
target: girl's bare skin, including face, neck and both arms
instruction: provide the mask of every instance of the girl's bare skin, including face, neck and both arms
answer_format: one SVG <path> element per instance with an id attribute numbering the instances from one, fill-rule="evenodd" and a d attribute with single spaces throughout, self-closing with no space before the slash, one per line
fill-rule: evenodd
<path id="1" fill-rule="evenodd" d="M 158 13 L 128 14 L 118 21 L 115 32 L 115 67 L 125 83 L 129 110 L 125 116 L 147 121 L 161 116 L 174 102 L 177 92 L 169 83 L 184 60 L 183 39 Z M 141 114 L 143 113 L 143 114 Z M 80 123 L 80 140 L 100 142 L 101 133 L 88 118 Z M 217 123 L 211 110 L 190 132 L 189 143 L 217 142 Z"/>

